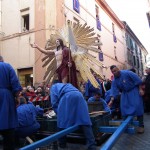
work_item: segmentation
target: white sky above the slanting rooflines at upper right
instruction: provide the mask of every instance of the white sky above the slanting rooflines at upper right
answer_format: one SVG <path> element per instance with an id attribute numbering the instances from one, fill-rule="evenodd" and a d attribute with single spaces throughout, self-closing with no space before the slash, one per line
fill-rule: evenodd
<path id="1" fill-rule="evenodd" d="M 121 21 L 126 21 L 150 54 L 150 27 L 146 12 L 148 0 L 105 0 Z M 149 9 L 149 10 L 148 10 Z"/>

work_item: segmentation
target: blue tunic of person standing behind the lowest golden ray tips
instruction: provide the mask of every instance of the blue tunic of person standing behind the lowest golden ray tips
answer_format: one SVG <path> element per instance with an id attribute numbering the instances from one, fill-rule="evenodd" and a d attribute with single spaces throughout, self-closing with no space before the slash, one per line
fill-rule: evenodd
<path id="1" fill-rule="evenodd" d="M 102 87 L 101 87 L 101 83 L 100 80 L 96 79 L 97 82 L 99 83 L 99 88 L 95 88 L 91 82 L 88 80 L 88 82 L 85 85 L 85 96 L 90 98 L 92 96 L 94 96 L 95 93 L 100 93 L 102 95 Z"/>

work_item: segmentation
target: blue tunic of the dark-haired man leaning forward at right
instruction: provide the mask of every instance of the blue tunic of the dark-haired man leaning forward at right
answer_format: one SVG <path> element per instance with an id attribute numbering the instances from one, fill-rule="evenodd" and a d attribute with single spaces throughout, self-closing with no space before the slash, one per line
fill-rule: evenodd
<path id="1" fill-rule="evenodd" d="M 142 80 L 128 70 L 121 70 L 120 76 L 114 78 L 111 86 L 112 95 L 117 96 L 119 91 L 122 92 L 120 103 L 122 116 L 143 115 L 143 100 L 139 94 L 141 83 Z"/>

